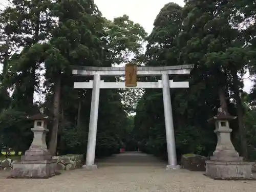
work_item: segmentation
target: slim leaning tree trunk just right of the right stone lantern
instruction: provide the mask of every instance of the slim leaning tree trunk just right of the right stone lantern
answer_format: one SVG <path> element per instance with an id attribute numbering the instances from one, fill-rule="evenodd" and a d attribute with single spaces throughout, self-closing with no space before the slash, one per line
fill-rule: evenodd
<path id="1" fill-rule="evenodd" d="M 240 133 L 240 140 L 241 140 L 241 152 L 242 156 L 245 160 L 248 159 L 248 150 L 247 150 L 247 139 L 246 139 L 246 129 L 244 126 L 243 120 L 243 105 L 240 97 L 239 91 L 239 80 L 237 70 L 232 70 L 233 76 L 233 92 L 234 92 L 234 99 L 236 100 L 237 105 L 237 116 L 238 116 L 238 126 L 239 126 L 239 133 Z"/>

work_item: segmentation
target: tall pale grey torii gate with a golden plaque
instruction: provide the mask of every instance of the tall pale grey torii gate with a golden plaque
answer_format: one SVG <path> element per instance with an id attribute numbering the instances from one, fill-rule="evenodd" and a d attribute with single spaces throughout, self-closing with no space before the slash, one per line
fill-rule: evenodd
<path id="1" fill-rule="evenodd" d="M 91 101 L 91 114 L 89 123 L 89 134 L 87 144 L 86 165 L 83 168 L 95 169 L 95 148 L 97 136 L 97 121 L 99 109 L 99 92 L 100 89 L 126 89 L 126 88 L 162 88 L 165 131 L 168 153 L 168 165 L 166 169 L 178 169 L 175 135 L 173 125 L 172 103 L 170 100 L 169 88 L 188 88 L 187 81 L 175 82 L 169 80 L 169 75 L 190 74 L 194 65 L 167 66 L 167 67 L 136 67 L 136 65 L 126 65 L 124 67 L 75 67 L 73 75 L 93 76 L 89 82 L 74 82 L 75 89 L 93 89 Z M 100 76 L 124 76 L 125 82 L 104 82 Z M 158 82 L 137 82 L 138 76 L 162 76 Z"/>

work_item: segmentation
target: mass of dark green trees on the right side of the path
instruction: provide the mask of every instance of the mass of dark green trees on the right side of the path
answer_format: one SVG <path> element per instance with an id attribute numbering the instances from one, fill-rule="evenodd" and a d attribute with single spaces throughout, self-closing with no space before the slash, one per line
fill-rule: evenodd
<path id="1" fill-rule="evenodd" d="M 210 155 L 214 151 L 216 135 L 207 119 L 216 115 L 217 108 L 223 104 L 220 90 L 224 90 L 228 112 L 240 114 L 239 123 L 231 123 L 233 138 L 239 138 L 238 124 L 244 129 L 239 104 L 243 82 L 239 76 L 248 66 L 252 66 L 253 71 L 255 63 L 252 57 L 255 35 L 250 29 L 254 24 L 241 28 L 248 24 L 246 19 L 255 16 L 250 9 L 254 5 L 250 3 L 247 8 L 244 1 L 191 0 L 185 3 L 183 8 L 169 3 L 160 10 L 147 38 L 145 54 L 148 66 L 195 65 L 189 77 L 173 77 L 176 81 L 189 81 L 189 89 L 171 90 L 178 157 L 184 153 Z M 237 14 L 238 11 L 244 15 Z M 146 152 L 166 157 L 162 105 L 162 93 L 146 90 L 138 102 L 135 127 Z M 239 131 L 243 135 L 241 129 Z M 251 137 L 254 136 L 252 133 Z M 243 140 L 245 143 L 244 137 Z M 241 147 L 237 147 L 240 152 L 244 150 Z"/>

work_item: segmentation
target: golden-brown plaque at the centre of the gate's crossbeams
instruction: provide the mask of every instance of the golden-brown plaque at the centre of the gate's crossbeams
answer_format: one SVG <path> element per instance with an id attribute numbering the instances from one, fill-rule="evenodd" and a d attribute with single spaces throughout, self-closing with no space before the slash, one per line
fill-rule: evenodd
<path id="1" fill-rule="evenodd" d="M 137 65 L 126 64 L 125 65 L 125 87 L 137 86 Z"/>

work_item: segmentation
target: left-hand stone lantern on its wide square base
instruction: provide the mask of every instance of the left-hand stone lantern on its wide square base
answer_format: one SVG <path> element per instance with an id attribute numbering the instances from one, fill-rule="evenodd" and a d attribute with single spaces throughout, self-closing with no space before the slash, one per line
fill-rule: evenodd
<path id="1" fill-rule="evenodd" d="M 22 156 L 22 160 L 13 164 L 11 178 L 49 178 L 56 175 L 57 160 L 47 149 L 46 133 L 49 117 L 39 113 L 28 117 L 34 121 L 31 131 L 34 133 L 29 149 Z"/>

